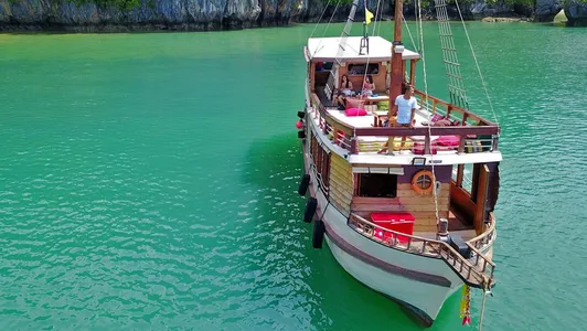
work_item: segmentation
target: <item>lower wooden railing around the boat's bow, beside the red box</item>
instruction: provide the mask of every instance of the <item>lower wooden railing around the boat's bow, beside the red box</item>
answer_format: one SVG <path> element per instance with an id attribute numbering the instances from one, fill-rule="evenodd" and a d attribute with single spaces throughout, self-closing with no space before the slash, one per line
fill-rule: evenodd
<path id="1" fill-rule="evenodd" d="M 349 217 L 348 225 L 380 245 L 415 255 L 440 258 L 471 287 L 483 288 L 494 284 L 495 264 L 473 245 L 469 244 L 473 257 L 468 259 L 445 242 L 388 229 L 354 213 Z"/>

